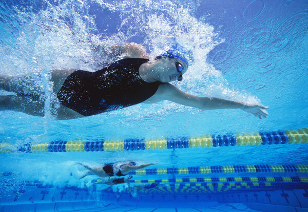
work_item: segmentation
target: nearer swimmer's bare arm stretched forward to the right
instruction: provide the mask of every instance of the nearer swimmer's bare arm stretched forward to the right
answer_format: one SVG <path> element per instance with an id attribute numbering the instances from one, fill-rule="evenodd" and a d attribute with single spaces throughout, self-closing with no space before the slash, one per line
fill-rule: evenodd
<path id="1" fill-rule="evenodd" d="M 268 113 L 265 111 L 268 107 L 261 105 L 245 105 L 242 102 L 230 101 L 219 98 L 199 97 L 186 94 L 177 87 L 169 83 L 162 83 L 153 98 L 153 102 L 169 100 L 186 106 L 199 108 L 203 110 L 214 109 L 242 109 L 247 113 L 252 113 L 259 118 L 267 118 Z M 152 102 L 149 102 L 152 103 Z"/>

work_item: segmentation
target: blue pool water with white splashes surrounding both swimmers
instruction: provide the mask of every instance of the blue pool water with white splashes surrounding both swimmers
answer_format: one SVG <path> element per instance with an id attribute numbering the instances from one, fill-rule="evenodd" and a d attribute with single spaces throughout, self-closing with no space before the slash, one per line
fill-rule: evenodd
<path id="1" fill-rule="evenodd" d="M 44 117 L 0 111 L 0 211 L 308 211 L 307 1 L 11 0 L 0 29 L 0 75 L 40 74 L 47 99 Z M 125 42 L 179 49 L 175 86 L 268 118 L 163 101 L 56 120 L 51 70 L 99 70 Z M 132 194 L 79 179 L 76 162 L 127 160 L 159 163 L 130 173 Z"/>

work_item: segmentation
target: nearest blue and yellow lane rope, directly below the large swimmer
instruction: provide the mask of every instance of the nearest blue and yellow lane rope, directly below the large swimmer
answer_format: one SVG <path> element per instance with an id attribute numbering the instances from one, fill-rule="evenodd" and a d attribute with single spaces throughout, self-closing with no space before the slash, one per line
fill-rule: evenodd
<path id="1" fill-rule="evenodd" d="M 167 138 L 159 140 L 125 139 L 114 141 L 51 141 L 45 143 L 26 143 L 22 145 L 0 143 L 0 154 L 9 153 L 63 153 L 63 152 L 103 152 L 103 151 L 145 151 L 145 150 L 175 150 L 200 147 L 273 145 L 273 144 L 306 144 L 308 129 L 259 132 L 254 135 L 211 135 L 192 138 Z"/>

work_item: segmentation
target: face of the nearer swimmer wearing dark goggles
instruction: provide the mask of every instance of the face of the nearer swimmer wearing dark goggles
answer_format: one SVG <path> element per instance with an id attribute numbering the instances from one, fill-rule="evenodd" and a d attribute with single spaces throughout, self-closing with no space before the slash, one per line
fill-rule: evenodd
<path id="1" fill-rule="evenodd" d="M 167 56 L 158 57 L 157 59 L 159 62 L 159 78 L 161 82 L 180 81 L 180 76 L 187 71 L 186 63 L 180 59 Z"/>

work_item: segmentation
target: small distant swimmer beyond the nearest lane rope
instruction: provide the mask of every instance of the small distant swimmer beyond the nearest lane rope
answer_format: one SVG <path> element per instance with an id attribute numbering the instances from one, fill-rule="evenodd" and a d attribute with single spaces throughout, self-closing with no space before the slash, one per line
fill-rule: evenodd
<path id="1" fill-rule="evenodd" d="M 137 165 L 136 162 L 134 161 L 127 161 L 125 163 L 123 162 L 117 162 L 117 163 L 108 163 L 108 164 L 104 164 L 104 165 L 88 165 L 88 164 L 83 164 L 78 162 L 78 164 L 84 166 L 85 168 L 87 168 L 89 171 L 87 173 L 85 173 L 80 179 L 94 174 L 97 175 L 99 177 L 120 177 L 120 176 L 125 176 L 127 175 L 129 172 L 134 171 L 134 170 L 138 170 L 140 168 L 145 168 L 149 165 L 156 165 L 158 163 L 146 163 L 146 164 L 142 164 L 142 165 Z"/>

